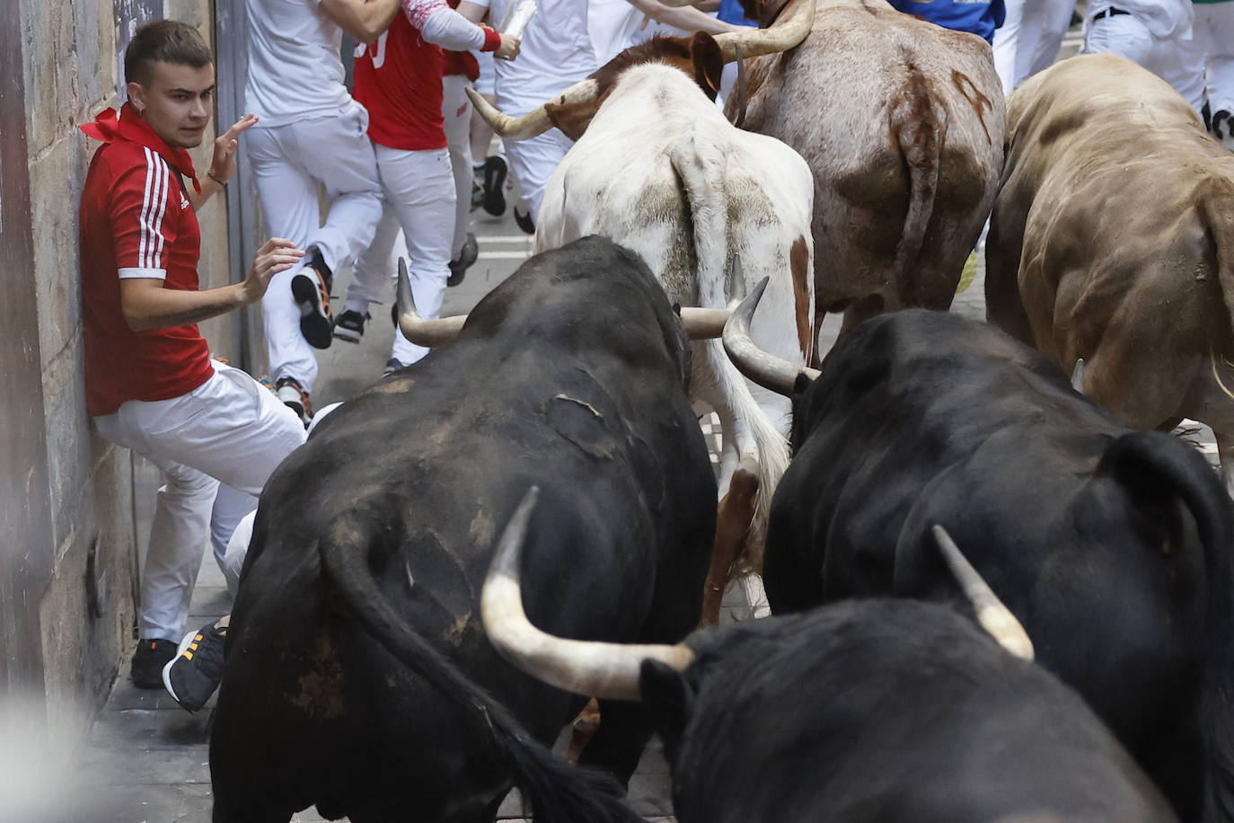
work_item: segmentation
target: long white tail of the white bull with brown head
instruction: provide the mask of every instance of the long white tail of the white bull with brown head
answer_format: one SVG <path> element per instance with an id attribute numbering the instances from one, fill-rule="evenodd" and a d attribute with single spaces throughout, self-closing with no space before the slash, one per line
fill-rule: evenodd
<path id="1" fill-rule="evenodd" d="M 677 141 L 670 149 L 673 168 L 682 183 L 692 217 L 698 304 L 705 308 L 724 308 L 728 302 L 726 284 L 733 243 L 728 236 L 726 158 L 724 147 L 716 143 L 708 127 L 695 128 L 692 134 Z M 729 418 L 722 421 L 726 439 L 734 437 L 739 452 L 743 442 L 753 442 L 756 452 L 752 455 L 759 482 L 754 517 L 742 553 L 731 564 L 729 576 L 735 573 L 761 573 L 771 495 L 789 468 L 789 442 L 768 418 L 750 392 L 749 384 L 728 359 L 723 342 L 710 339 L 703 342 L 702 348 L 717 381 L 716 394 L 728 406 L 727 413 L 726 410 L 717 408 L 721 417 Z M 740 457 L 744 455 L 739 455 L 739 464 Z"/>

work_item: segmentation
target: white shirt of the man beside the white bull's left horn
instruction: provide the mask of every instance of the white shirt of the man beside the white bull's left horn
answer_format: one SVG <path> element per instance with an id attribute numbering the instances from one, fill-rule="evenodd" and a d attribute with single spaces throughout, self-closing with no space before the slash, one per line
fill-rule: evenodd
<path id="1" fill-rule="evenodd" d="M 500 28 L 512 0 L 474 1 L 489 9 L 492 26 Z M 494 60 L 497 107 L 507 115 L 526 115 L 600 68 L 587 33 L 587 0 L 536 4 L 539 9 L 527 23 L 518 57 Z"/>

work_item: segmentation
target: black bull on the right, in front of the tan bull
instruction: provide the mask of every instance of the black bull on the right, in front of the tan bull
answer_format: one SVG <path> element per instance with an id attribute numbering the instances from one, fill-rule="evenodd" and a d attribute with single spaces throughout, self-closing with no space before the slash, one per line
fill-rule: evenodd
<path id="1" fill-rule="evenodd" d="M 764 568 L 777 613 L 959 596 L 942 523 L 1185 819 L 1229 817 L 1230 501 L 1196 450 L 1134 432 L 1006 334 L 921 310 L 797 380 Z"/>

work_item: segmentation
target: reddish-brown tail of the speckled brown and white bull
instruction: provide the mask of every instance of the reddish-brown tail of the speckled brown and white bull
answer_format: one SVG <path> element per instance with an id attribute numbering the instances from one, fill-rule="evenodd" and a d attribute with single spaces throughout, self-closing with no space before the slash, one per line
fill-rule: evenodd
<path id="1" fill-rule="evenodd" d="M 908 64 L 908 79 L 900 99 L 891 106 L 890 118 L 891 133 L 908 173 L 908 212 L 891 271 L 893 283 L 898 284 L 897 296 L 902 308 L 921 305 L 913 287 L 917 278 L 912 268 L 926 244 L 926 230 L 934 213 L 940 157 L 946 139 L 946 110 L 934 105 L 926 75 L 912 63 Z"/>

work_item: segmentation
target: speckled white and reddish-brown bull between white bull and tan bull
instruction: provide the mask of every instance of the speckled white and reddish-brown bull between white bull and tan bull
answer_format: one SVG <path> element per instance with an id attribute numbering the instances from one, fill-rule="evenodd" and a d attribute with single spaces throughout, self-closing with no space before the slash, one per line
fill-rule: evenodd
<path id="1" fill-rule="evenodd" d="M 764 25 L 775 14 L 774 0 L 743 5 Z M 805 42 L 747 72 L 744 127 L 814 174 L 819 312 L 844 312 L 843 336 L 884 311 L 949 307 L 1002 170 L 990 46 L 882 0 L 818 0 Z"/>

